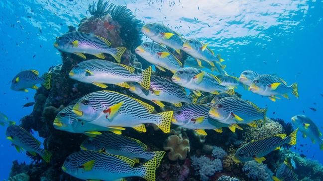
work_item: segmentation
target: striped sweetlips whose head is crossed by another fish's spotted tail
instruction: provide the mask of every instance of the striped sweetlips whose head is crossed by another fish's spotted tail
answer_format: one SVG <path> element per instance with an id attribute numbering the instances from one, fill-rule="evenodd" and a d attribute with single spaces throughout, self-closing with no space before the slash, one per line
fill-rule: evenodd
<path id="1" fill-rule="evenodd" d="M 163 77 L 152 75 L 150 79 L 150 88 L 145 90 L 137 83 L 130 84 L 130 92 L 137 94 L 139 97 L 150 100 L 158 106 L 164 108 L 163 102 L 174 104 L 176 107 L 184 103 L 195 103 L 197 96 L 187 95 L 185 89 Z"/>

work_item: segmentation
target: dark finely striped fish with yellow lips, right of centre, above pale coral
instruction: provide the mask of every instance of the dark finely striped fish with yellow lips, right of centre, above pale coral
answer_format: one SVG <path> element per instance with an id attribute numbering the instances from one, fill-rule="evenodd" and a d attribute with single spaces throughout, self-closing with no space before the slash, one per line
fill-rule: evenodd
<path id="1" fill-rule="evenodd" d="M 266 112 L 267 109 L 260 109 L 250 101 L 238 97 L 224 97 L 214 104 L 209 115 L 219 122 L 231 124 L 229 128 L 234 130 L 235 127 L 239 128 L 236 124 L 256 127 L 256 121 L 265 121 Z"/>

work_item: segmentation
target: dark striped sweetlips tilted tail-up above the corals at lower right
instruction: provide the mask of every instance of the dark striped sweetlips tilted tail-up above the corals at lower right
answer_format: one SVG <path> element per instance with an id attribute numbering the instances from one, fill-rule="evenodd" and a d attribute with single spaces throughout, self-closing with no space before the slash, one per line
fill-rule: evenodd
<path id="1" fill-rule="evenodd" d="M 273 150 L 280 149 L 281 145 L 285 143 L 295 145 L 297 131 L 298 129 L 293 131 L 289 136 L 286 136 L 286 134 L 276 134 L 256 141 L 251 141 L 235 152 L 233 161 L 239 163 L 255 160 L 258 163 L 262 163 L 262 161 L 266 160 L 264 158 L 265 155 Z"/>

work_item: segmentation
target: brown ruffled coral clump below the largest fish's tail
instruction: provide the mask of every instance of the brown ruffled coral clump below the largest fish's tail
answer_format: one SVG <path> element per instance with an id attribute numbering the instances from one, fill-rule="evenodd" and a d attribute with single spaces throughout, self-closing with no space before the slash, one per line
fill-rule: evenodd
<path id="1" fill-rule="evenodd" d="M 184 160 L 187 156 L 187 153 L 190 152 L 190 140 L 188 138 L 183 139 L 181 134 L 170 135 L 164 141 L 164 150 L 169 150 L 169 160 Z"/>

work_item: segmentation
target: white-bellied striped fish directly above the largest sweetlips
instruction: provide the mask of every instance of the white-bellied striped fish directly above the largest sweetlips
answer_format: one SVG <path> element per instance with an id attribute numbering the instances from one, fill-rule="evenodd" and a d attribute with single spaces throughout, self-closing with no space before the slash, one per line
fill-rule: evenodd
<path id="1" fill-rule="evenodd" d="M 70 78 L 92 83 L 101 88 L 114 84 L 129 88 L 127 82 L 138 82 L 145 89 L 150 87 L 151 66 L 141 74 L 135 74 L 133 67 L 107 60 L 85 60 L 75 65 L 69 72 Z"/>

